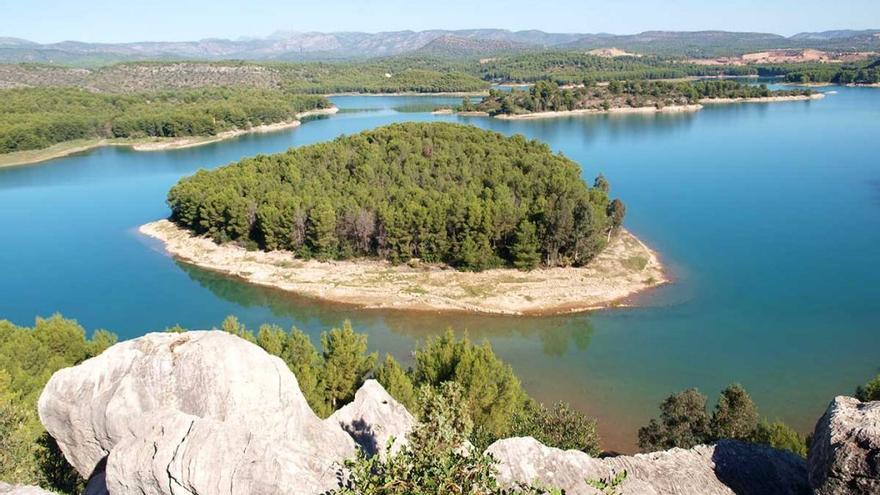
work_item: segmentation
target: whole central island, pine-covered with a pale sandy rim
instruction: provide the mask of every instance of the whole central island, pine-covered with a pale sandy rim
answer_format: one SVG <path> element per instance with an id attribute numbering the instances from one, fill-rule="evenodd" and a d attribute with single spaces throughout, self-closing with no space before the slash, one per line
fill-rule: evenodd
<path id="1" fill-rule="evenodd" d="M 666 281 L 609 189 L 523 136 L 404 123 L 199 171 L 169 192 L 173 223 L 141 232 L 203 268 L 337 302 L 583 311 Z"/>

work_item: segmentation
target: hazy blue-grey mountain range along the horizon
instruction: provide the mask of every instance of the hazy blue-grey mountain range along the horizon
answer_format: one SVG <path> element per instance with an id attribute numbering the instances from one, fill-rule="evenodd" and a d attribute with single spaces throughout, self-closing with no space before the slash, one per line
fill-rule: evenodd
<path id="1" fill-rule="evenodd" d="M 416 56 L 468 57 L 540 49 L 620 48 L 630 52 L 687 57 L 737 55 L 774 48 L 839 51 L 880 49 L 880 29 L 799 33 L 648 31 L 634 35 L 547 33 L 503 29 L 318 33 L 279 31 L 266 38 L 181 42 L 39 44 L 0 37 L 0 62 L 73 65 L 134 60 L 333 60 Z"/>

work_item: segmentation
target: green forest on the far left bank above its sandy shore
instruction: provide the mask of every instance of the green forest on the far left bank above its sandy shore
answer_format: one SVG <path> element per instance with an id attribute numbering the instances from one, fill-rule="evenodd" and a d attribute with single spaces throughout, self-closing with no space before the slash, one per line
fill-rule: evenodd
<path id="1" fill-rule="evenodd" d="M 321 96 L 211 88 L 111 95 L 73 88 L 0 90 L 0 153 L 91 138 L 211 136 L 294 120 Z"/>

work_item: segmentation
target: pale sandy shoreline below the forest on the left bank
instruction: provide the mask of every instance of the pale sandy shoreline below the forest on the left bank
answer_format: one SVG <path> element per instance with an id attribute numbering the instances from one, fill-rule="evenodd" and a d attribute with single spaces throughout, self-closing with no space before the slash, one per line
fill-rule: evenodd
<path id="1" fill-rule="evenodd" d="M 0 155 L 0 168 L 15 167 L 20 165 L 33 165 L 56 158 L 76 153 L 83 153 L 104 146 L 124 146 L 134 151 L 168 151 L 176 149 L 193 148 L 206 144 L 217 143 L 246 134 L 264 134 L 293 129 L 302 125 L 300 119 L 316 117 L 320 115 L 333 115 L 339 112 L 339 108 L 321 108 L 308 110 L 296 114 L 296 120 L 263 124 L 248 129 L 232 129 L 223 131 L 213 136 L 186 136 L 180 138 L 119 138 L 119 139 L 83 139 L 56 143 L 48 148 L 39 150 L 16 151 Z"/>

